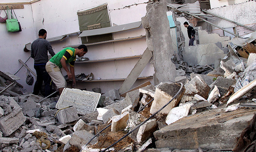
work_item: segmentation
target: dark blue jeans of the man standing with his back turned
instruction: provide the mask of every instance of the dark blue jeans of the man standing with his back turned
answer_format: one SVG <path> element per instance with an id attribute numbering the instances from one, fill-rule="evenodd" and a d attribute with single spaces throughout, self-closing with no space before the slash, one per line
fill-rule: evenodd
<path id="1" fill-rule="evenodd" d="M 33 90 L 34 95 L 38 95 L 44 83 L 44 96 L 47 97 L 52 92 L 51 77 L 45 70 L 45 64 L 34 65 L 36 70 L 36 82 Z"/>

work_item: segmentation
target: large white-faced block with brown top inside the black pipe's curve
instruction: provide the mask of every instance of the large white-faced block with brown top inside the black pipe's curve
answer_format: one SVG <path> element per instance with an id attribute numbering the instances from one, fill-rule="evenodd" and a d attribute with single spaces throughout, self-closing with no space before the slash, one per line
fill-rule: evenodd
<path id="1" fill-rule="evenodd" d="M 155 98 L 152 102 L 150 113 L 153 114 L 162 108 L 165 104 L 167 104 L 175 94 L 180 90 L 181 85 L 177 83 L 170 84 L 168 82 L 160 83 L 156 88 Z M 168 113 L 173 107 L 177 106 L 181 98 L 185 92 L 185 87 L 183 86 L 181 93 L 171 101 L 164 109 L 162 109 L 161 113 Z"/>

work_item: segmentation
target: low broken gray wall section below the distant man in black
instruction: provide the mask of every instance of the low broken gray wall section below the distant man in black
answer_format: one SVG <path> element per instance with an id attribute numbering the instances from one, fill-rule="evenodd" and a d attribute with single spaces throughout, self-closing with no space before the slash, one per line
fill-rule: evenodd
<path id="1" fill-rule="evenodd" d="M 199 44 L 183 48 L 183 58 L 188 65 L 205 65 L 213 64 L 215 60 L 225 57 L 224 51 L 215 43 Z"/>

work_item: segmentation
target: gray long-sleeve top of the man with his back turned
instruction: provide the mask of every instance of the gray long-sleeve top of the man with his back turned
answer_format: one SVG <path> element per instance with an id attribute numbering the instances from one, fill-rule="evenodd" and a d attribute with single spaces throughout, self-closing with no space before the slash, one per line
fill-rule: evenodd
<path id="1" fill-rule="evenodd" d="M 50 42 L 42 38 L 36 39 L 31 44 L 31 57 L 34 59 L 34 64 L 47 63 L 48 51 L 51 56 L 55 55 Z"/>

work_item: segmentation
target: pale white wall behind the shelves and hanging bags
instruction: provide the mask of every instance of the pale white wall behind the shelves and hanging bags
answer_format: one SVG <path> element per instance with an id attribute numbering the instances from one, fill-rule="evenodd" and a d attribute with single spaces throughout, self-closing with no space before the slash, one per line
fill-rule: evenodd
<path id="1" fill-rule="evenodd" d="M 2 1 L 1 1 L 2 2 Z M 24 2 L 21 0 L 3 1 L 7 2 Z M 31 5 L 24 5 L 24 9 L 15 9 L 15 13 L 18 15 L 18 19 L 21 22 L 23 28 L 19 33 L 7 33 L 5 24 L 0 24 L 1 38 L 0 38 L 0 50 L 1 50 L 1 64 L 0 70 L 15 73 L 21 66 L 18 59 L 22 59 L 24 62 L 30 56 L 30 52 L 24 52 L 24 45 L 33 42 L 38 35 L 40 29 L 47 31 L 47 38 L 57 37 L 69 33 L 79 31 L 78 17 L 76 12 L 78 10 L 91 8 L 104 3 L 108 4 L 109 16 L 111 25 L 113 23 L 117 25 L 140 21 L 141 17 L 146 14 L 146 2 L 147 0 L 96 0 L 96 1 L 81 1 L 81 0 L 40 0 L 32 3 Z M 136 5 L 135 5 L 136 4 Z M 124 32 L 117 32 L 114 34 L 114 39 L 135 37 L 145 35 L 145 29 L 142 27 Z M 68 36 L 63 41 L 52 42 L 51 45 L 55 53 L 59 52 L 68 45 L 81 44 L 81 39 L 77 37 L 77 34 Z M 85 57 L 93 59 L 105 59 L 121 56 L 131 56 L 142 54 L 147 48 L 145 39 L 127 40 L 122 42 L 105 43 L 100 45 L 88 46 L 88 53 Z M 11 62 L 10 62 L 11 61 Z M 94 79 L 100 77 L 102 79 L 115 79 L 126 78 L 130 70 L 138 61 L 135 59 L 117 60 L 108 62 L 97 63 L 76 63 L 75 74 L 90 72 L 94 73 Z M 30 59 L 27 65 L 33 70 L 33 59 Z M 26 68 L 17 74 L 21 77 L 18 82 L 21 83 L 24 88 L 32 92 L 33 86 L 28 86 L 25 83 Z M 154 68 L 149 63 L 146 68 L 140 74 L 140 77 L 153 75 Z M 63 70 L 63 75 L 66 72 Z M 143 80 L 146 81 L 146 80 Z M 140 80 L 139 82 L 143 82 Z M 152 81 L 150 79 L 150 81 Z M 91 87 L 101 87 L 102 92 L 106 92 L 110 89 L 119 89 L 122 82 L 112 82 L 118 85 L 109 85 L 111 82 L 102 83 L 78 83 L 78 88 L 87 88 L 91 90 Z M 137 85 L 138 82 L 135 83 Z M 103 87 L 104 86 L 104 87 Z"/>

